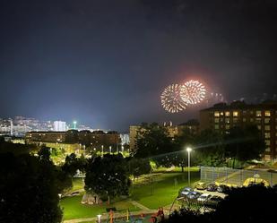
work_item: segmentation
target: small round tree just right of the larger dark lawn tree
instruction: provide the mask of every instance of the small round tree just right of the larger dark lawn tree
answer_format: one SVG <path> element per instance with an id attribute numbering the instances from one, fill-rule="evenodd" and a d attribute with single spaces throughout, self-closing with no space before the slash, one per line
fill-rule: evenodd
<path id="1" fill-rule="evenodd" d="M 151 172 L 149 159 L 130 159 L 128 161 L 129 173 L 134 176 L 133 180 L 141 175 L 146 175 Z"/>

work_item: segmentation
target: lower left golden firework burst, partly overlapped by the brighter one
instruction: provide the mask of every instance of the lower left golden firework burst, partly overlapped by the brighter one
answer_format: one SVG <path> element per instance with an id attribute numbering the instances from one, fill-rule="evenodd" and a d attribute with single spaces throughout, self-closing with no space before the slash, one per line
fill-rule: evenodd
<path id="1" fill-rule="evenodd" d="M 186 109 L 186 102 L 180 98 L 180 85 L 171 84 L 160 95 L 161 106 L 169 113 Z"/>

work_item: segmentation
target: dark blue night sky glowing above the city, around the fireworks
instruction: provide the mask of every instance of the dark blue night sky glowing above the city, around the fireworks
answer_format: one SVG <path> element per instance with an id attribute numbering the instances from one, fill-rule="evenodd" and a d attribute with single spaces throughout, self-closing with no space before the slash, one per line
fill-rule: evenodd
<path id="1" fill-rule="evenodd" d="M 277 93 L 276 0 L 1 0 L 0 27 L 0 117 L 127 131 L 198 116 L 160 107 L 170 83 Z"/>

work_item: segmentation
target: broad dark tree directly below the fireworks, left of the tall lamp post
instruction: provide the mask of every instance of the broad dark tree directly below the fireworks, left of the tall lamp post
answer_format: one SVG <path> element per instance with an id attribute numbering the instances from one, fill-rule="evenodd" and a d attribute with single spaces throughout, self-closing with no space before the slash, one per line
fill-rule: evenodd
<path id="1" fill-rule="evenodd" d="M 173 150 L 174 144 L 168 130 L 159 124 L 142 124 L 136 137 L 135 158 L 148 158 Z"/>

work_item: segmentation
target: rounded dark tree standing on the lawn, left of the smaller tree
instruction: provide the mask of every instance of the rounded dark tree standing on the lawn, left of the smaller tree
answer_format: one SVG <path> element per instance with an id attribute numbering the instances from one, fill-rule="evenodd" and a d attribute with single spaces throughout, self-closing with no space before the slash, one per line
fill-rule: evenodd
<path id="1" fill-rule="evenodd" d="M 127 195 L 130 180 L 126 160 L 121 154 L 89 159 L 84 182 L 87 193 L 108 196 L 108 203 L 118 195 Z"/>

